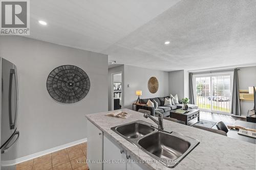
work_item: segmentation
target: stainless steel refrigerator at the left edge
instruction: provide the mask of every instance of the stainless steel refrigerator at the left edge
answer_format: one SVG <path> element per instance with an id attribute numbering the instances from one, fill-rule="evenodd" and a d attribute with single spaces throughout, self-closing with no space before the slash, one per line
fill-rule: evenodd
<path id="1" fill-rule="evenodd" d="M 1 168 L 12 169 L 5 163 L 16 159 L 15 144 L 19 137 L 18 118 L 18 81 L 16 66 L 4 58 L 0 58 L 0 120 L 1 120 Z"/>

